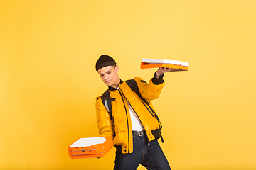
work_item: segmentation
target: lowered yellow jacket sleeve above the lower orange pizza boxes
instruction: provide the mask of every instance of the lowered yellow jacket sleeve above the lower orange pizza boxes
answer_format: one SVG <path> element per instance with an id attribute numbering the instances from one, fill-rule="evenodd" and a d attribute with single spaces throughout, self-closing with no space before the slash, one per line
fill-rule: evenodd
<path id="1" fill-rule="evenodd" d="M 110 113 L 107 112 L 101 98 L 96 99 L 97 128 L 100 136 L 112 136 L 114 138 L 114 127 Z"/>

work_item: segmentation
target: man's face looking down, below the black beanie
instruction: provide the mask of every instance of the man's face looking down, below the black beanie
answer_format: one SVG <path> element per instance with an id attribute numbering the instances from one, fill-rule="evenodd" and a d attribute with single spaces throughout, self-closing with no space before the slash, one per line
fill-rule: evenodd
<path id="1" fill-rule="evenodd" d="M 115 68 L 112 66 L 106 66 L 97 71 L 100 74 L 100 78 L 107 86 L 112 86 L 114 88 L 118 87 L 120 82 L 118 72 L 118 66 Z"/>

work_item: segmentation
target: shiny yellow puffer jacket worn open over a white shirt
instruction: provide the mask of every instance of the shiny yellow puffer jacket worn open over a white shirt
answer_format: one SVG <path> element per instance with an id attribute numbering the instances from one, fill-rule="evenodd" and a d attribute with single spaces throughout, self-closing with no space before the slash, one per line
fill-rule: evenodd
<path id="1" fill-rule="evenodd" d="M 161 89 L 164 87 L 164 81 L 161 84 L 153 84 L 152 79 L 149 84 L 143 79 L 135 77 L 139 92 L 142 97 L 149 102 L 151 108 L 151 100 L 159 98 Z M 156 119 L 154 113 L 151 113 L 149 106 L 142 101 L 139 96 L 132 91 L 125 81 L 121 81 L 119 89 L 109 87 L 110 97 L 115 98 L 112 102 L 112 118 L 107 112 L 100 97 L 96 99 L 97 112 L 97 127 L 100 136 L 112 136 L 114 146 L 117 148 L 117 153 L 132 153 L 132 122 L 129 114 L 127 101 L 134 109 L 135 113 L 142 123 L 146 136 L 149 141 L 161 137 L 159 132 L 159 121 Z M 153 108 L 154 109 L 154 108 Z"/>

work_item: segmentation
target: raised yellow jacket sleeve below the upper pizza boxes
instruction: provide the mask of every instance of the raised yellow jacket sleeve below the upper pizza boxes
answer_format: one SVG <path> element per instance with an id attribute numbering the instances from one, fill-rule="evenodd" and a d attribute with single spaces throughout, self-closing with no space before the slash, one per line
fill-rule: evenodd
<path id="1" fill-rule="evenodd" d="M 154 84 L 152 79 L 149 80 L 149 83 L 146 83 L 140 77 L 134 77 L 134 80 L 137 82 L 139 93 L 142 94 L 143 98 L 149 101 L 159 98 L 161 89 L 164 87 L 164 80 L 160 84 Z"/>

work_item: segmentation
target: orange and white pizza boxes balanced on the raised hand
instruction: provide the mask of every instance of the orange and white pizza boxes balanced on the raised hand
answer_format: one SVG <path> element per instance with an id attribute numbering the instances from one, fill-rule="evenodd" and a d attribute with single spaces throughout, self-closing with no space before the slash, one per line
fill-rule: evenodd
<path id="1" fill-rule="evenodd" d="M 188 62 L 181 62 L 170 59 L 142 59 L 141 69 L 149 69 L 156 67 L 172 68 L 175 71 L 188 71 Z"/>

